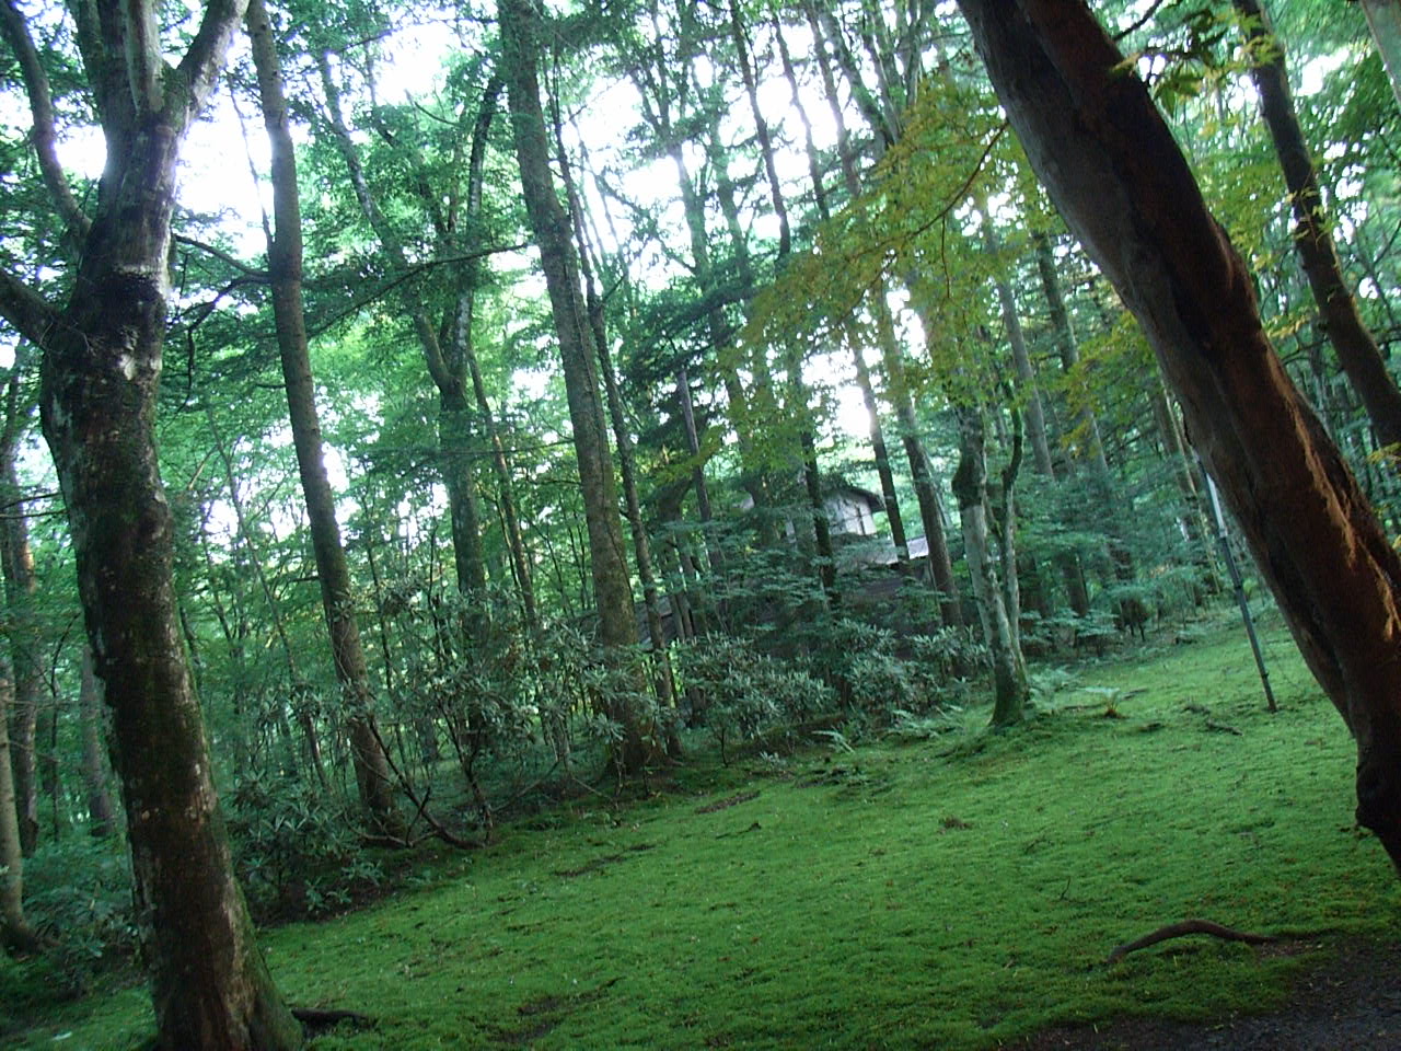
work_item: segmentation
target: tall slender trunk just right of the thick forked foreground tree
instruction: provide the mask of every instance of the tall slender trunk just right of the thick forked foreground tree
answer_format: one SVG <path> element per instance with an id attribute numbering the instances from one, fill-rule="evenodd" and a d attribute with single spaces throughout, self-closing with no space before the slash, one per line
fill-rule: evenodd
<path id="1" fill-rule="evenodd" d="M 272 279 L 273 318 L 282 377 L 287 388 L 287 416 L 297 450 L 297 469 L 311 524 L 311 549 L 321 583 L 321 605 L 331 635 L 331 657 L 336 680 L 345 691 L 346 731 L 360 803 L 371 827 L 384 834 L 399 831 L 389 760 L 374 722 L 374 689 L 360 642 L 350 589 L 350 569 L 336 502 L 326 478 L 321 446 L 321 420 L 307 348 L 307 320 L 301 305 L 301 200 L 297 191 L 297 161 L 287 123 L 276 42 L 262 0 L 249 1 L 248 35 L 258 70 L 258 94 L 272 149 L 273 230 L 268 242 L 268 272 Z"/>

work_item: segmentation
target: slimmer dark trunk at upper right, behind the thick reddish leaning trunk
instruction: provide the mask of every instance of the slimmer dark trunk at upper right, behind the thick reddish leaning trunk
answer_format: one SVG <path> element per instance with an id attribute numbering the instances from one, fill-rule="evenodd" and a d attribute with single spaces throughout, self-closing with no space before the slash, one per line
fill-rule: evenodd
<path id="1" fill-rule="evenodd" d="M 1323 318 L 1324 332 L 1338 353 L 1353 392 L 1367 409 L 1367 418 L 1381 446 L 1401 446 L 1401 390 L 1381 360 L 1381 350 L 1358 311 L 1358 300 L 1342 275 L 1338 248 L 1328 231 L 1328 212 L 1318 188 L 1318 171 L 1309 156 L 1295 99 L 1289 91 L 1285 48 L 1275 36 L 1269 15 L 1259 0 L 1233 0 L 1245 17 L 1245 39 L 1254 66 L 1250 70 L 1259 92 L 1259 112 L 1275 143 L 1279 167 L 1285 172 L 1289 202 L 1295 210 L 1295 248 L 1309 287 Z M 1401 455 L 1401 448 L 1394 450 Z"/>

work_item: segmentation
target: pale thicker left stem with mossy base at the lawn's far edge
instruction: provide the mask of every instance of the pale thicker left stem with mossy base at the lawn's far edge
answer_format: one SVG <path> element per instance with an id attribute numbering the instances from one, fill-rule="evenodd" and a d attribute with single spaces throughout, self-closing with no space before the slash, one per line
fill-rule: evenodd
<path id="1" fill-rule="evenodd" d="M 1027 702 L 1027 670 L 1009 618 L 998 561 L 992 551 L 988 514 L 988 462 L 984 450 L 982 412 L 960 406 L 958 469 L 953 489 L 962 520 L 964 549 L 972 591 L 982 619 L 984 640 L 992 654 L 995 726 L 1021 722 Z"/>

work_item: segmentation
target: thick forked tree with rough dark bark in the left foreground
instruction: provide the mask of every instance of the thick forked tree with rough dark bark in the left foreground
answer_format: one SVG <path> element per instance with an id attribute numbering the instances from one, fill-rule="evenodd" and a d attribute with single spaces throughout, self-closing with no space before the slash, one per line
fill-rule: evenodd
<path id="1" fill-rule="evenodd" d="M 0 28 L 24 73 L 39 164 L 77 247 L 62 303 L 0 270 L 0 315 L 42 352 L 43 434 L 67 506 L 87 635 L 113 715 L 160 1043 L 205 1051 L 293 1048 L 301 1043 L 300 1026 L 254 943 L 233 874 L 181 646 L 174 523 L 153 433 L 177 163 L 217 83 L 244 4 L 209 4 L 174 66 L 163 57 L 154 4 L 76 8 L 77 46 L 106 142 L 91 216 L 57 164 L 49 85 L 24 17 L 13 0 L 0 10 Z"/>

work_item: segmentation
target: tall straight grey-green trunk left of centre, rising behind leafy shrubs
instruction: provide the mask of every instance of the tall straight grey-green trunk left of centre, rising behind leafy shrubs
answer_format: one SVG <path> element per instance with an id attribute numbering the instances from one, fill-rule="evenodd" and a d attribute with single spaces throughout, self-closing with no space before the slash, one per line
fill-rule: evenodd
<path id="1" fill-rule="evenodd" d="M 497 10 L 521 188 L 531 230 L 539 245 L 565 371 L 600 635 L 609 656 L 618 659 L 625 647 L 636 645 L 637 622 L 623 554 L 612 460 L 598 398 L 598 376 L 588 353 L 588 322 L 580 301 L 579 265 L 569 219 L 559 206 L 549 171 L 549 140 L 537 73 L 539 14 L 530 0 L 500 0 Z M 622 727 L 622 744 L 614 755 L 622 774 L 639 774 L 663 758 L 657 727 L 646 716 L 619 702 L 611 702 L 607 715 Z"/>

